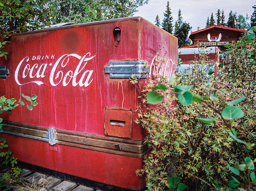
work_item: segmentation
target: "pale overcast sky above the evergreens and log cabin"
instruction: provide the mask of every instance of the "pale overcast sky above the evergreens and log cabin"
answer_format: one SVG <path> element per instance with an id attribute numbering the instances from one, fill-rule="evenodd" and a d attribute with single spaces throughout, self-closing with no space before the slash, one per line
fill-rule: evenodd
<path id="1" fill-rule="evenodd" d="M 224 10 L 225 22 L 227 22 L 230 10 L 239 14 L 250 17 L 253 12 L 252 6 L 255 0 L 169 0 L 173 26 L 178 19 L 178 10 L 181 10 L 183 22 L 189 23 L 192 26 L 192 32 L 197 31 L 197 27 L 205 28 L 207 17 L 211 18 L 211 13 L 216 20 L 217 10 Z M 149 0 L 148 4 L 139 7 L 139 11 L 134 16 L 141 16 L 148 21 L 154 23 L 156 15 L 159 16 L 160 22 L 164 18 L 163 13 L 166 11 L 167 0 Z"/>

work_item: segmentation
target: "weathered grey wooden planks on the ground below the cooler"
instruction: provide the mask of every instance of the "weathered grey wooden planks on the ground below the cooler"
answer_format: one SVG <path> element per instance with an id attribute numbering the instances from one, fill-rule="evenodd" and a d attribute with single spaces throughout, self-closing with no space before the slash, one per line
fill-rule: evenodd
<path id="1" fill-rule="evenodd" d="M 61 180 L 52 176 L 46 176 L 42 173 L 21 169 L 21 182 L 23 185 L 33 185 L 33 187 L 42 187 L 47 191 L 100 191 L 94 188 L 79 185 L 73 182 Z M 10 172 L 10 168 L 6 168 L 1 173 Z M 9 184 L 11 190 L 15 190 L 14 185 Z"/>

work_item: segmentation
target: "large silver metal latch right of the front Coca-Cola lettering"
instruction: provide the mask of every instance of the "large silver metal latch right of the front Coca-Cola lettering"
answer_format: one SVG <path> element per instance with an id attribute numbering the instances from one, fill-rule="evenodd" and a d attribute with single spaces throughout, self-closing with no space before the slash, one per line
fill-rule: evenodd
<path id="1" fill-rule="evenodd" d="M 145 63 L 145 64 L 144 64 Z M 109 74 L 110 78 L 130 78 L 135 75 L 137 78 L 147 78 L 149 67 L 147 61 L 111 61 L 109 66 L 105 66 L 105 74 Z"/>

